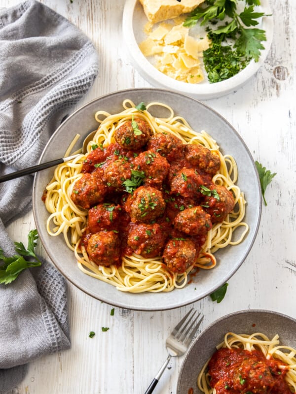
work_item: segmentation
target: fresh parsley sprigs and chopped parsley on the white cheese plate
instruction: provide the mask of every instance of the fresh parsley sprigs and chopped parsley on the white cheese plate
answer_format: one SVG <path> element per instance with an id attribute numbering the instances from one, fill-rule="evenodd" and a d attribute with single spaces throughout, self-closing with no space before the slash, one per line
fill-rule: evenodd
<path id="1" fill-rule="evenodd" d="M 206 7 L 198 6 L 189 14 L 184 26 L 194 26 L 199 20 L 201 26 L 207 25 L 212 47 L 204 51 L 203 57 L 208 79 L 213 83 L 237 74 L 252 59 L 259 61 L 260 51 L 264 49 L 261 42 L 266 41 L 266 34 L 254 26 L 259 24 L 259 18 L 267 15 L 254 10 L 260 0 L 246 0 L 240 13 L 237 13 L 238 0 L 207 0 L 206 3 Z M 228 22 L 213 30 L 225 17 Z"/>

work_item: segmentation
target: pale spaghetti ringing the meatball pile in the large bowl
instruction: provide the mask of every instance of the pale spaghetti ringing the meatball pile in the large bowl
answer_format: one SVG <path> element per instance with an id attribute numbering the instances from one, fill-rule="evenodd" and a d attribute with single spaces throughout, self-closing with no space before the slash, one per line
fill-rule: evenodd
<path id="1" fill-rule="evenodd" d="M 149 112 L 153 106 L 166 108 L 169 116 L 167 118 L 153 117 Z M 217 188 L 225 187 L 234 197 L 235 208 L 221 223 L 213 223 L 211 230 L 207 232 L 198 259 L 182 273 L 170 271 L 163 263 L 162 256 L 149 258 L 135 253 L 123 256 L 120 265 L 98 265 L 89 258 L 81 242 L 87 228 L 88 209 L 75 204 L 71 195 L 75 183 L 83 176 L 83 163 L 94 146 L 102 149 L 110 146 L 114 142 L 115 131 L 126 121 L 134 118 L 147 122 L 153 135 L 169 133 L 177 136 L 183 144 L 198 144 L 218 154 L 220 169 L 214 175 L 212 182 L 217 185 Z M 139 110 L 131 100 L 126 99 L 123 101 L 122 112 L 110 114 L 106 111 L 98 111 L 95 119 L 99 127 L 93 140 L 88 143 L 87 153 L 81 153 L 74 160 L 56 167 L 54 176 L 46 187 L 44 198 L 46 209 L 50 213 L 46 225 L 48 233 L 51 236 L 63 234 L 67 246 L 74 251 L 81 271 L 110 283 L 123 292 L 169 292 L 174 288 L 184 287 L 189 273 L 194 269 L 215 267 L 216 259 L 213 254 L 217 250 L 242 242 L 249 228 L 243 222 L 246 204 L 244 194 L 235 184 L 238 177 L 237 165 L 233 157 L 222 155 L 217 142 L 208 133 L 194 131 L 183 117 L 175 116 L 170 106 L 160 102 L 151 102 L 144 110 Z M 79 135 L 74 138 L 66 155 L 72 153 L 78 138 Z M 241 230 L 237 230 L 239 228 Z"/>

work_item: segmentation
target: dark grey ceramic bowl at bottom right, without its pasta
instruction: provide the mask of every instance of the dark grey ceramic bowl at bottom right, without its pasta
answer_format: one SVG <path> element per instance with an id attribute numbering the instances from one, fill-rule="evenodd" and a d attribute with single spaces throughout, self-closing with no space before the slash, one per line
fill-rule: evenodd
<path id="1" fill-rule="evenodd" d="M 202 394 L 197 388 L 197 376 L 216 351 L 226 332 L 252 334 L 262 332 L 268 337 L 278 334 L 282 345 L 296 349 L 296 320 L 273 311 L 243 310 L 226 315 L 207 327 L 192 343 L 182 363 L 178 378 L 177 394 Z M 191 391 L 192 393 L 192 391 Z"/>

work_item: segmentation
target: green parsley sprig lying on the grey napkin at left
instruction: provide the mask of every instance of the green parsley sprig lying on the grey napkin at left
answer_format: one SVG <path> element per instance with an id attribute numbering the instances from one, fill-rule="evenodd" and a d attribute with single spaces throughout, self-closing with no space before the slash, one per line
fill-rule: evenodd
<path id="1" fill-rule="evenodd" d="M 31 230 L 28 234 L 27 249 L 22 242 L 14 242 L 15 251 L 18 255 L 11 257 L 6 257 L 0 248 L 0 260 L 2 261 L 0 263 L 0 283 L 7 285 L 13 282 L 24 269 L 41 265 L 40 260 L 35 254 L 37 238 L 37 230 Z M 35 261 L 27 261 L 24 257 L 34 258 Z"/>

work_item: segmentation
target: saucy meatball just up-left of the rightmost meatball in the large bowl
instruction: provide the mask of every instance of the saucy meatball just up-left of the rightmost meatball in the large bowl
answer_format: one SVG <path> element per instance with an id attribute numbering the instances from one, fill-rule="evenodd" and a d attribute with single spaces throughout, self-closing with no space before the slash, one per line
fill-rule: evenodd
<path id="1" fill-rule="evenodd" d="M 182 168 L 176 173 L 170 183 L 171 192 L 183 197 L 201 197 L 200 186 L 202 177 L 192 168 Z"/>

